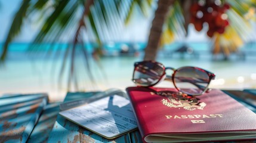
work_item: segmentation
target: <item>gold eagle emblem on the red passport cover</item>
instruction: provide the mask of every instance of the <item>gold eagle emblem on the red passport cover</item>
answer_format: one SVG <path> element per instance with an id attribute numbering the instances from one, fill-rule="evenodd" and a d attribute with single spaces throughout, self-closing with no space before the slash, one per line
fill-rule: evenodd
<path id="1" fill-rule="evenodd" d="M 177 92 L 156 92 L 155 94 L 166 97 L 162 99 L 162 104 L 170 108 L 183 108 L 185 110 L 193 111 L 196 109 L 203 110 L 206 106 L 205 102 L 199 102 L 199 98 L 187 96 Z"/>

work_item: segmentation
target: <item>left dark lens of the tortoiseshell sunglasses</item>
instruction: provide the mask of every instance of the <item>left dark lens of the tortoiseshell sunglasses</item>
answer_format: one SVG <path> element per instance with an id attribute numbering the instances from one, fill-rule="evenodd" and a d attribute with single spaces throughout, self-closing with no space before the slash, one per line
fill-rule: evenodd
<path id="1" fill-rule="evenodd" d="M 162 74 L 164 67 L 159 63 L 141 62 L 135 65 L 132 80 L 140 86 L 150 86 L 157 83 Z"/>

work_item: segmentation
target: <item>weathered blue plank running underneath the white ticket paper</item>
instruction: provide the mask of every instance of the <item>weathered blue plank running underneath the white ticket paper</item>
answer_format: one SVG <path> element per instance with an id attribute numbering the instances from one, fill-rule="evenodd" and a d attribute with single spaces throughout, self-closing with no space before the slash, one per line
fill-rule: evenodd
<path id="1" fill-rule="evenodd" d="M 88 98 L 97 93 L 98 92 L 68 93 L 64 102 Z M 116 139 L 105 139 L 58 115 L 48 142 L 131 142 L 129 138 L 129 134 L 126 134 Z"/>

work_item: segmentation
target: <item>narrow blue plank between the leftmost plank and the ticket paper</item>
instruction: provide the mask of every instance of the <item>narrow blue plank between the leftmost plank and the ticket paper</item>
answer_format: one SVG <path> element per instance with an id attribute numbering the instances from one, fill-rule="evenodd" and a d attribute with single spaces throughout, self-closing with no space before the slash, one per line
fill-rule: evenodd
<path id="1" fill-rule="evenodd" d="M 59 105 L 60 102 L 53 102 L 45 106 L 27 142 L 47 142 L 51 129 L 53 129 L 53 125 L 57 119 L 58 112 L 60 111 Z"/>

